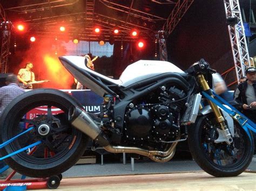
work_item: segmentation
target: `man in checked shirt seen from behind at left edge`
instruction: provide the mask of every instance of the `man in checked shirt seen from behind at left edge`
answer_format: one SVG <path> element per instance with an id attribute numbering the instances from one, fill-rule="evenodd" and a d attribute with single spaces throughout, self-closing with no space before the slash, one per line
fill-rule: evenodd
<path id="1" fill-rule="evenodd" d="M 17 76 L 14 74 L 8 75 L 5 79 L 6 86 L 0 88 L 0 116 L 3 114 L 5 107 L 14 100 L 15 97 L 24 93 L 24 89 L 18 86 Z M 0 169 L 5 166 L 3 161 L 0 161 Z M 0 174 L 0 178 L 6 178 L 10 171 L 5 171 Z"/>

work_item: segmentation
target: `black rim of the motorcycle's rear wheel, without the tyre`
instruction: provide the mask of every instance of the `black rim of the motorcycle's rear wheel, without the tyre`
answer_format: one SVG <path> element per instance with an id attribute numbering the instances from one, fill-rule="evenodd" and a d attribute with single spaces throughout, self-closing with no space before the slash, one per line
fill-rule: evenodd
<path id="1" fill-rule="evenodd" d="M 29 119 L 24 118 L 25 115 L 38 107 L 47 108 L 45 114 L 38 114 Z M 17 138 L 10 144 L 11 150 L 17 151 L 22 147 L 41 140 L 40 145 L 21 152 L 18 155 L 22 160 L 30 164 L 44 165 L 51 164 L 65 156 L 72 148 L 77 138 L 77 130 L 71 128 L 68 123 L 69 105 L 59 103 L 57 101 L 37 100 L 30 102 L 24 107 L 19 108 L 14 115 L 14 123 L 8 127 L 8 139 L 25 131 L 33 126 L 34 129 L 29 133 Z M 61 110 L 60 114 L 55 115 L 53 111 Z M 50 128 L 47 136 L 38 133 L 38 126 L 46 124 Z M 44 128 L 42 128 L 44 130 Z"/>

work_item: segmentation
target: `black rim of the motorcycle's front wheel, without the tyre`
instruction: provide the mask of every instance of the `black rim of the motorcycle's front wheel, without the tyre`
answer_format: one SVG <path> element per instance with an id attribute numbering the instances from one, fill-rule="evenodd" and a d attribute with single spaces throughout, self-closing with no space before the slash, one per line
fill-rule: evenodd
<path id="1" fill-rule="evenodd" d="M 215 121 L 203 123 L 200 133 L 200 146 L 205 157 L 210 163 L 218 168 L 232 169 L 238 167 L 245 160 L 250 148 L 246 132 L 234 123 L 233 143 L 228 145 L 226 142 L 214 143 L 218 137 L 219 124 Z"/>

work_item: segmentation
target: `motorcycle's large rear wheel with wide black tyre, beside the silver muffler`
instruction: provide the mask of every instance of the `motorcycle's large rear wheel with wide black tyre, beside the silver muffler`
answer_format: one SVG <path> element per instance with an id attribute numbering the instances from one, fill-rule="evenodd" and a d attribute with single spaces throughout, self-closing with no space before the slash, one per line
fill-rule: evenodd
<path id="1" fill-rule="evenodd" d="M 30 177 L 59 175 L 83 155 L 88 137 L 68 121 L 72 105 L 81 105 L 70 95 L 55 89 L 28 91 L 5 108 L 0 119 L 2 143 L 32 128 L 3 147 L 1 155 L 11 154 L 32 143 L 41 144 L 4 161 L 12 169 Z"/>

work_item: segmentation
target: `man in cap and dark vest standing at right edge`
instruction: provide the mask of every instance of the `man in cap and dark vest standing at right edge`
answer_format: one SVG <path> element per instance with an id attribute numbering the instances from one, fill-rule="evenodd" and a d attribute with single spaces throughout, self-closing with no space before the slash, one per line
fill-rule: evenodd
<path id="1" fill-rule="evenodd" d="M 238 103 L 238 109 L 256 123 L 256 68 L 247 68 L 245 74 L 247 80 L 238 84 L 234 100 Z"/>

